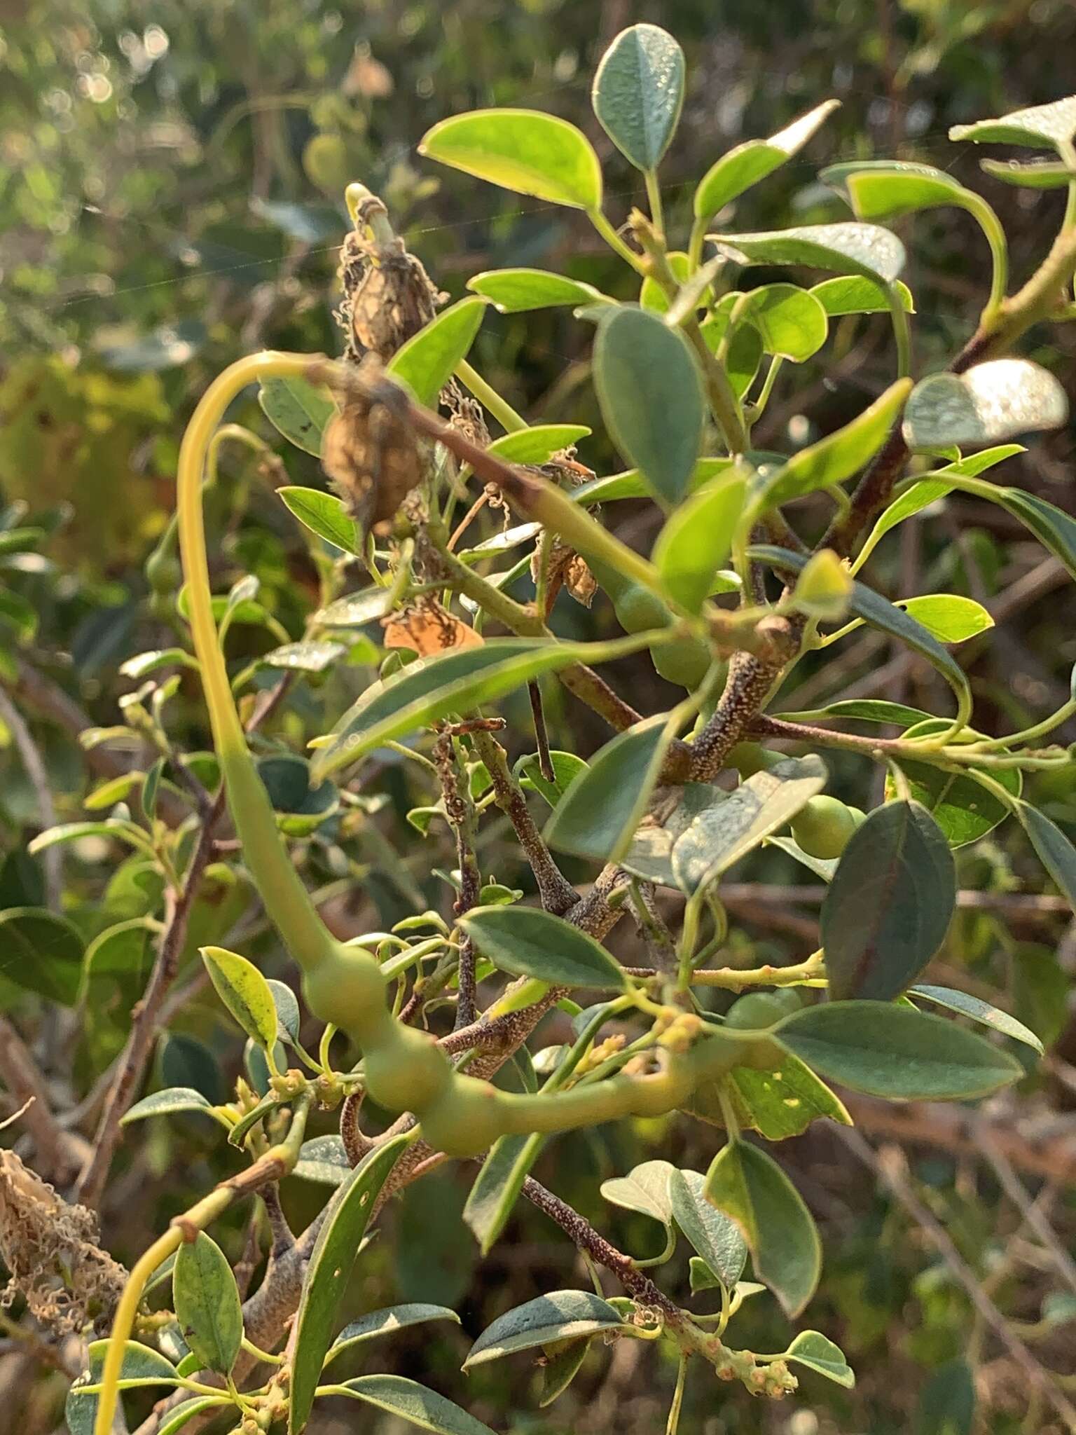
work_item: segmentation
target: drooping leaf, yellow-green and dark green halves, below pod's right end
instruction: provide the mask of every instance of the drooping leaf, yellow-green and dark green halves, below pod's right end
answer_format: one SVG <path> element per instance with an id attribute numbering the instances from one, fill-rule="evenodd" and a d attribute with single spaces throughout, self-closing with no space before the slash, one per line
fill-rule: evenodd
<path id="1" fill-rule="evenodd" d="M 758 1147 L 730 1141 L 706 1172 L 706 1200 L 743 1231 L 755 1274 L 795 1317 L 822 1273 L 818 1228 L 780 1167 Z"/>

